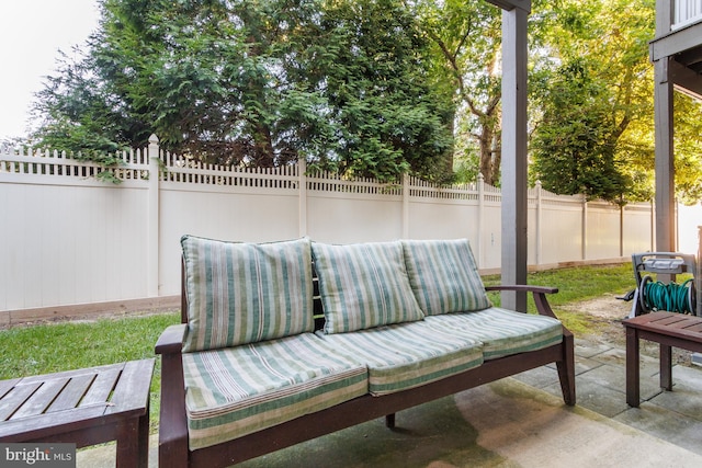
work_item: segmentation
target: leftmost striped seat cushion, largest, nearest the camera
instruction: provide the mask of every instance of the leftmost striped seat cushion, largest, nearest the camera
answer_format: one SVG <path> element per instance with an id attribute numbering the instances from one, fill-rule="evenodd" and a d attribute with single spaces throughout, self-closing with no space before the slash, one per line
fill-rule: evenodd
<path id="1" fill-rule="evenodd" d="M 364 365 L 312 333 L 183 354 L 190 448 L 208 447 L 367 392 Z"/>

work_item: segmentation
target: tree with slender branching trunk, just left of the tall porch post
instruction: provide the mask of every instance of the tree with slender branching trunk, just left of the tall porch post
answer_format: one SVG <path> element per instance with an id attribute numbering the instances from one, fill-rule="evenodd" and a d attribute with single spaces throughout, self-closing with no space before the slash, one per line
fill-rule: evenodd
<path id="1" fill-rule="evenodd" d="M 500 9 L 485 1 L 420 0 L 421 27 L 433 43 L 434 85 L 456 105 L 457 163 L 499 184 L 501 163 Z"/>

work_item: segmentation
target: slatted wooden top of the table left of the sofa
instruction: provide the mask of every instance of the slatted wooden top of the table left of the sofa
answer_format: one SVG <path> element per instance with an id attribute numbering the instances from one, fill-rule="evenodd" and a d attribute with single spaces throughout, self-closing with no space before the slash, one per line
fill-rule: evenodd
<path id="1" fill-rule="evenodd" d="M 154 358 L 0 380 L 0 441 L 146 413 Z"/>

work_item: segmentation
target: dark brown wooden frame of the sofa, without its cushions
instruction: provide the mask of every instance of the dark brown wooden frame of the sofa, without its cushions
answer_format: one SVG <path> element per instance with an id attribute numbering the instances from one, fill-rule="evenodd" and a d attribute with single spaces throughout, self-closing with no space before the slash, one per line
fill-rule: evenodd
<path id="1" fill-rule="evenodd" d="M 227 467 L 264 454 L 269 454 L 301 442 L 330 434 L 376 418 L 385 416 L 388 427 L 395 426 L 395 413 L 421 403 L 446 397 L 555 363 L 561 380 L 563 399 L 574 406 L 575 354 L 573 333 L 563 328 L 563 341 L 542 350 L 514 354 L 486 361 L 479 367 L 396 393 L 373 397 L 364 395 L 292 421 L 258 431 L 211 447 L 190 450 L 188 446 L 188 421 L 185 416 L 185 388 L 181 359 L 182 342 L 188 321 L 188 301 L 182 282 L 181 321 L 169 328 L 156 344 L 156 354 L 161 355 L 161 407 L 159 423 L 159 467 Z M 540 315 L 554 317 L 546 294 L 557 288 L 541 286 L 489 286 L 486 290 L 517 290 L 531 293 Z M 324 316 L 321 301 L 315 297 L 315 328 L 321 329 Z"/>

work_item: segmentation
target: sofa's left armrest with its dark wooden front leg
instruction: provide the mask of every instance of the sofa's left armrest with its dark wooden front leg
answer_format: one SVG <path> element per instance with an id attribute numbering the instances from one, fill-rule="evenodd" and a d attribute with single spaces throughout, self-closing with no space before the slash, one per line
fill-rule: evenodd
<path id="1" fill-rule="evenodd" d="M 170 326 L 156 342 L 156 354 L 161 355 L 160 466 L 176 467 L 188 463 L 185 380 L 181 355 L 186 330 L 185 323 Z"/>

